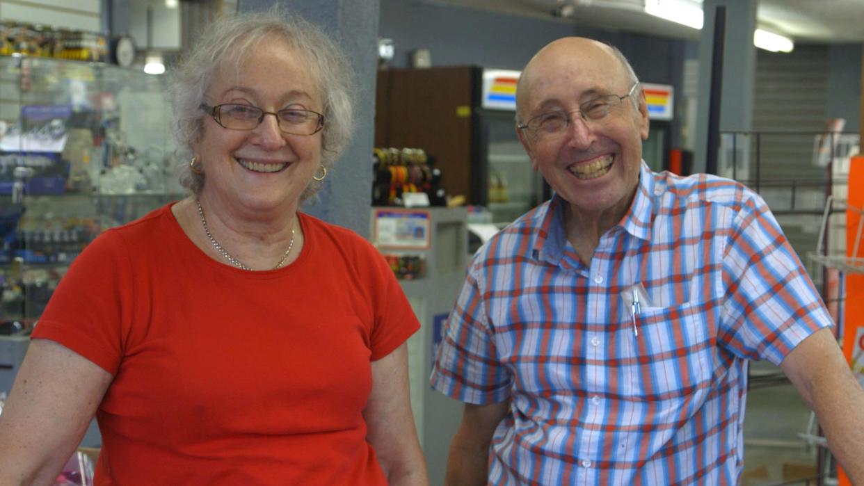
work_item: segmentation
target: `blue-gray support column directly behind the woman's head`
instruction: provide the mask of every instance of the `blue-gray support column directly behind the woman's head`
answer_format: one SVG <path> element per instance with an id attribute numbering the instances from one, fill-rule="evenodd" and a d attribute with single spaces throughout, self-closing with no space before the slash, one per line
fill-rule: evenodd
<path id="1" fill-rule="evenodd" d="M 372 207 L 372 142 L 375 136 L 375 80 L 378 69 L 378 0 L 239 0 L 240 11 L 280 4 L 324 28 L 345 50 L 354 72 L 355 130 L 319 200 L 304 211 L 369 237 Z"/>

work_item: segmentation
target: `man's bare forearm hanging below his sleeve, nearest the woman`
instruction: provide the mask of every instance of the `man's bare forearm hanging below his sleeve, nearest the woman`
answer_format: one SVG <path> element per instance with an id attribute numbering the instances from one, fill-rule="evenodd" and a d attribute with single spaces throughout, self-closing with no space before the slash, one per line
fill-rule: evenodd
<path id="1" fill-rule="evenodd" d="M 459 430 L 450 443 L 445 486 L 486 486 L 492 433 L 509 407 L 509 400 L 491 405 L 465 404 Z"/>

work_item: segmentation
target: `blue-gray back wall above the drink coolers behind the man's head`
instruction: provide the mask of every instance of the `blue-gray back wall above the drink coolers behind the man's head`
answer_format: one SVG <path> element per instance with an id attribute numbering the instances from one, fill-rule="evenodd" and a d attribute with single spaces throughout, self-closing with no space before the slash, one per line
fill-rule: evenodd
<path id="1" fill-rule="evenodd" d="M 378 36 L 396 46 L 394 67 L 410 66 L 410 53 L 429 49 L 433 66 L 476 65 L 522 69 L 531 56 L 550 41 L 584 35 L 618 47 L 645 82 L 683 86 L 685 52 L 696 42 L 581 28 L 571 21 L 511 16 L 486 10 L 426 3 L 416 0 L 381 0 Z M 677 100 L 682 97 L 678 96 Z M 672 126 L 677 146 L 680 120 Z"/>

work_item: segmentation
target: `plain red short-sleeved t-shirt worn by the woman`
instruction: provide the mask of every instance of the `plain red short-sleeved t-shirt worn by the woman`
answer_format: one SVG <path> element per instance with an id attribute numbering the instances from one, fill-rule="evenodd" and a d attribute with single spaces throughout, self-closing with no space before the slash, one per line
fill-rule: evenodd
<path id="1" fill-rule="evenodd" d="M 378 250 L 301 214 L 295 262 L 248 272 L 170 206 L 91 243 L 33 333 L 114 376 L 96 484 L 386 484 L 370 362 L 419 323 Z"/>

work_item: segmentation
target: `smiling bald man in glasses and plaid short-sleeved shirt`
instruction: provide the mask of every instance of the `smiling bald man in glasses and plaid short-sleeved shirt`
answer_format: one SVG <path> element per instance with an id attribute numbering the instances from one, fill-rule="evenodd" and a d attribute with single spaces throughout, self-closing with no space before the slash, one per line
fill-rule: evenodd
<path id="1" fill-rule="evenodd" d="M 550 43 L 517 100 L 556 195 L 480 249 L 451 313 L 431 380 L 466 402 L 448 483 L 736 484 L 747 360 L 767 359 L 864 484 L 864 391 L 765 202 L 651 172 L 613 47 Z"/>

